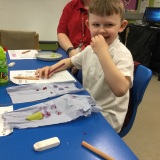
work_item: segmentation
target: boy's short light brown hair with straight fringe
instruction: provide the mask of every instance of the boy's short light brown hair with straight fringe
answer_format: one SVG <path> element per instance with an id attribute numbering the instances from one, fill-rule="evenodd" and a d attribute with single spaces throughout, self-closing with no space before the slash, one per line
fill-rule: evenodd
<path id="1" fill-rule="evenodd" d="M 93 0 L 89 7 L 89 13 L 97 16 L 120 14 L 121 20 L 124 20 L 125 9 L 121 0 Z"/>

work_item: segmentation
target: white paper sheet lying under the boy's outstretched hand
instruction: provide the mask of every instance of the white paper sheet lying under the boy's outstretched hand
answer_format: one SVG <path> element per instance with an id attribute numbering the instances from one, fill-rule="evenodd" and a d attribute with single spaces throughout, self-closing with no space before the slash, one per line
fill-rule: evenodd
<path id="1" fill-rule="evenodd" d="M 75 78 L 67 71 L 57 72 L 52 75 L 50 79 L 39 79 L 39 80 L 27 80 L 27 79 L 15 79 L 15 76 L 21 77 L 35 77 L 36 70 L 15 70 L 10 71 L 10 81 L 15 84 L 31 84 L 31 83 L 52 83 L 52 82 L 75 82 Z"/>

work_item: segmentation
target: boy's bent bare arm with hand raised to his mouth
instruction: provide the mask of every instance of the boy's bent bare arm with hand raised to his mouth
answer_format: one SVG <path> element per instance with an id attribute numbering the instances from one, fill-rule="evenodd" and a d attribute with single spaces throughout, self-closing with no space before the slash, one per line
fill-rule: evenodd
<path id="1" fill-rule="evenodd" d="M 99 35 L 93 37 L 91 46 L 97 54 L 105 75 L 105 81 L 112 92 L 117 97 L 125 95 L 131 86 L 131 78 L 129 76 L 124 76 L 113 63 L 108 52 L 108 45 L 106 44 L 103 36 Z"/>

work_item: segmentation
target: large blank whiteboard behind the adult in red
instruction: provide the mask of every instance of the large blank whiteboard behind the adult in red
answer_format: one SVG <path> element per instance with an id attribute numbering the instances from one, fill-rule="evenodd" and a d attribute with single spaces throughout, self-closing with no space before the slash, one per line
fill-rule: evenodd
<path id="1" fill-rule="evenodd" d="M 39 33 L 40 41 L 57 41 L 57 25 L 70 0 L 0 0 L 0 29 Z"/>

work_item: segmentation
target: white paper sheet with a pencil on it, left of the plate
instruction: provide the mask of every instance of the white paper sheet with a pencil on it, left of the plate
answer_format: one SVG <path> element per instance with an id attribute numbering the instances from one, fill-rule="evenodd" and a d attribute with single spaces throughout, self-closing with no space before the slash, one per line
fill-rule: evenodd
<path id="1" fill-rule="evenodd" d="M 36 53 L 38 53 L 37 50 L 8 50 L 8 54 L 11 60 L 36 59 Z"/>

